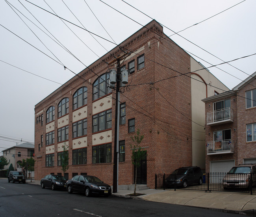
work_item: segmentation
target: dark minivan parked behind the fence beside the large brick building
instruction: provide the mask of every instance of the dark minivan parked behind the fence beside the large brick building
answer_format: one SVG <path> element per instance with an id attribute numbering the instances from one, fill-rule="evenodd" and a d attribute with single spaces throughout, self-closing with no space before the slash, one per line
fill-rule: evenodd
<path id="1" fill-rule="evenodd" d="M 203 182 L 203 174 L 200 167 L 180 167 L 173 171 L 171 175 L 167 175 L 165 184 L 167 186 L 181 186 L 187 187 L 187 185 L 198 184 Z"/>

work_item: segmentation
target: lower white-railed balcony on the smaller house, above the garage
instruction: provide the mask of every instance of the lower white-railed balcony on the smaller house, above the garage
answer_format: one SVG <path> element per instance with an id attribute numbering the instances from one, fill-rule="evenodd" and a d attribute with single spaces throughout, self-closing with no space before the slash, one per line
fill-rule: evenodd
<path id="1" fill-rule="evenodd" d="M 206 143 L 207 155 L 234 153 L 234 144 L 231 139 Z"/>

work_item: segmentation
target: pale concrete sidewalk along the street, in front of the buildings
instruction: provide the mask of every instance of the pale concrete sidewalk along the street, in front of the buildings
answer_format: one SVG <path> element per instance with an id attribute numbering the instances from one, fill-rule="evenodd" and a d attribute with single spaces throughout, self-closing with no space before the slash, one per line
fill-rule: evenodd
<path id="1" fill-rule="evenodd" d="M 28 180 L 28 184 L 40 185 L 40 181 Z M 118 190 L 112 193 L 117 197 L 130 197 L 134 199 L 148 200 L 154 202 L 178 204 L 184 206 L 195 206 L 214 210 L 226 210 L 240 214 L 251 214 L 256 212 L 256 195 L 230 192 L 204 192 L 178 189 L 147 189 L 136 191 L 143 195 L 137 197 L 128 196 L 133 190 Z"/>

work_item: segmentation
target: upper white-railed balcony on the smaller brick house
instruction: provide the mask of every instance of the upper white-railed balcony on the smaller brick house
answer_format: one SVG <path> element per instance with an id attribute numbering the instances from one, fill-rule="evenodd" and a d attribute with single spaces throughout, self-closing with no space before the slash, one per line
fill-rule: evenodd
<path id="1" fill-rule="evenodd" d="M 217 124 L 226 124 L 233 121 L 233 109 L 230 107 L 207 112 L 207 125 L 213 126 Z"/>

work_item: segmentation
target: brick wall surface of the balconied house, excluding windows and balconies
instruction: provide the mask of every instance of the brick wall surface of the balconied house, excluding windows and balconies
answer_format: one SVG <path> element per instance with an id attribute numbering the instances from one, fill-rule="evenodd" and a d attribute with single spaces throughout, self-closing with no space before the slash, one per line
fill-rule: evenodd
<path id="1" fill-rule="evenodd" d="M 254 73 L 255 74 L 255 73 Z M 255 76 L 255 75 L 253 75 Z M 246 125 L 256 123 L 256 107 L 246 109 L 245 92 L 255 89 L 256 80 L 249 77 L 247 82 L 242 82 L 232 91 L 204 99 L 206 119 L 207 113 L 213 111 L 213 103 L 230 99 L 230 108 L 234 111 L 234 121 L 230 123 L 219 123 L 214 126 L 207 125 L 206 121 L 206 147 L 208 141 L 213 141 L 213 133 L 217 130 L 231 129 L 231 140 L 234 144 L 234 153 L 223 154 L 221 152 L 208 155 L 206 152 L 206 172 L 212 172 L 210 164 L 216 161 L 234 160 L 235 165 L 246 163 L 245 160 L 255 159 L 256 141 L 247 142 Z M 231 168 L 230 168 L 231 169 Z"/>

